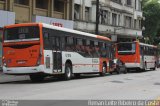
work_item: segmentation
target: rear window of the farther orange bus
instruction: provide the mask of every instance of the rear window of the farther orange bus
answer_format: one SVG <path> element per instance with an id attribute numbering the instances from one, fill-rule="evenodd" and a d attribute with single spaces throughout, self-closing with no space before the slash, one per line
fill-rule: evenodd
<path id="1" fill-rule="evenodd" d="M 136 44 L 135 43 L 119 43 L 117 45 L 118 54 L 120 55 L 130 55 L 135 54 Z"/>

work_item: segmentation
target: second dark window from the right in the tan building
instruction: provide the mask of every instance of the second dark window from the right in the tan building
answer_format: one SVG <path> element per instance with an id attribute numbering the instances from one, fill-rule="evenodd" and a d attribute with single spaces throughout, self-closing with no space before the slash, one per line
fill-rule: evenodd
<path id="1" fill-rule="evenodd" d="M 47 9 L 48 0 L 36 0 L 36 8 Z"/>

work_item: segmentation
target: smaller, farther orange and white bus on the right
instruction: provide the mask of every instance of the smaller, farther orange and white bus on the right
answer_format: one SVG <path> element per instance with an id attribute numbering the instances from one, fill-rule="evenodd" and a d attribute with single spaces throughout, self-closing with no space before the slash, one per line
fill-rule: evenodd
<path id="1" fill-rule="evenodd" d="M 138 41 L 121 42 L 116 44 L 116 57 L 122 60 L 128 69 L 155 70 L 157 50 L 157 46 Z"/>

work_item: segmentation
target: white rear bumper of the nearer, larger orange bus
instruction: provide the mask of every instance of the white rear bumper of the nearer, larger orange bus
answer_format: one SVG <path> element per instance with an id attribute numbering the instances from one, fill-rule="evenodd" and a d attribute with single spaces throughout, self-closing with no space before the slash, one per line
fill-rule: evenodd
<path id="1" fill-rule="evenodd" d="M 43 65 L 37 67 L 12 67 L 12 68 L 3 66 L 3 73 L 10 75 L 27 75 L 33 73 L 44 73 L 43 69 L 44 69 Z"/>

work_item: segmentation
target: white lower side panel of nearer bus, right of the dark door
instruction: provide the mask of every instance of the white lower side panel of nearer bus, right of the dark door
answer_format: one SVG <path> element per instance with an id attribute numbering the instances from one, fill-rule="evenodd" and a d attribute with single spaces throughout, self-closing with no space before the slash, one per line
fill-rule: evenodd
<path id="1" fill-rule="evenodd" d="M 97 58 L 87 58 L 83 57 L 76 52 L 62 52 L 62 63 L 65 66 L 67 61 L 72 63 L 72 72 L 73 73 L 97 73 L 99 72 L 99 59 Z M 93 64 L 96 62 L 97 64 Z M 64 72 L 63 68 L 63 72 Z"/>

